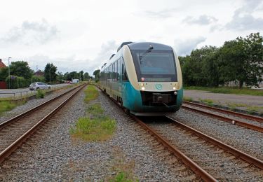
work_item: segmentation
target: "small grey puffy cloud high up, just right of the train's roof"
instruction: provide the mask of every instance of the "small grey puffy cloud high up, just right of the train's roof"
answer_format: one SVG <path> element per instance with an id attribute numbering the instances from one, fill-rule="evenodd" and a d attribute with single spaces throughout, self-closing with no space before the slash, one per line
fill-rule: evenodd
<path id="1" fill-rule="evenodd" d="M 208 16 L 208 15 L 201 15 L 198 18 L 188 16 L 187 18 L 184 18 L 182 22 L 187 23 L 189 25 L 191 24 L 210 25 L 213 22 L 217 22 L 217 19 L 214 18 L 213 16 Z"/>

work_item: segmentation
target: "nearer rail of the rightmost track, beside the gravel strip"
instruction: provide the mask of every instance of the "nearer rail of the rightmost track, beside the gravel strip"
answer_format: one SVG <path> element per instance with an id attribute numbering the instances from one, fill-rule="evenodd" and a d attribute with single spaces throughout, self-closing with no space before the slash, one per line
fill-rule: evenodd
<path id="1" fill-rule="evenodd" d="M 201 110 L 198 110 L 198 109 L 194 109 L 194 108 L 191 108 L 191 107 L 188 107 L 188 106 L 182 106 L 183 109 L 188 109 L 190 111 L 195 111 L 196 113 L 203 113 L 205 115 L 208 115 L 208 116 L 212 116 L 213 118 L 218 118 L 220 120 L 223 120 L 227 123 L 232 123 L 234 125 L 238 125 L 238 126 L 241 126 L 241 127 L 245 127 L 245 128 L 248 128 L 250 130 L 255 130 L 257 132 L 263 132 L 263 127 L 260 127 L 260 126 L 257 126 L 257 125 L 252 125 L 252 124 L 249 124 L 249 123 L 245 123 L 243 121 L 240 121 L 240 120 L 236 120 L 236 119 L 231 119 L 231 118 L 227 118 L 227 117 L 224 117 L 224 116 L 219 116 L 217 114 L 214 114 L 214 113 L 209 113 L 209 112 L 206 112 L 206 111 L 201 111 Z"/>

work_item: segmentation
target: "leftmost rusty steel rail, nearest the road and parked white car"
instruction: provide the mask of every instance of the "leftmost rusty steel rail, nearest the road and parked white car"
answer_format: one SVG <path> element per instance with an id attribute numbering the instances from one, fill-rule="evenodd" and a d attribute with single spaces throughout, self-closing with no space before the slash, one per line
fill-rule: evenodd
<path id="1" fill-rule="evenodd" d="M 75 90 L 75 89 L 77 89 L 78 87 L 81 87 L 81 86 L 82 86 L 82 85 L 79 85 L 79 86 L 77 86 L 77 87 L 74 87 L 74 88 L 72 88 L 72 90 L 69 90 L 69 91 L 67 91 L 67 92 L 65 92 L 65 93 L 63 93 L 63 94 L 60 94 L 60 95 L 58 95 L 57 97 L 55 97 L 55 98 L 53 98 L 53 99 L 49 99 L 48 101 L 40 104 L 39 106 L 35 106 L 34 108 L 27 110 L 27 111 L 25 111 L 24 113 L 20 113 L 18 116 L 15 116 L 15 117 L 13 117 L 13 118 L 11 118 L 11 119 L 9 119 L 9 120 L 6 120 L 4 123 L 0 123 L 0 129 L 1 129 L 2 127 L 5 127 L 6 125 L 9 125 L 9 124 L 13 123 L 15 120 L 19 120 L 19 119 L 21 119 L 21 118 L 24 118 L 24 117 L 27 116 L 29 113 L 32 113 L 32 112 L 34 112 L 34 111 L 36 111 L 36 110 L 38 110 L 38 109 L 41 109 L 43 106 L 46 106 L 46 105 L 49 104 L 50 102 L 53 102 L 53 101 L 55 101 L 56 99 L 59 99 L 60 97 L 64 96 L 65 94 L 67 94 L 67 93 L 69 93 L 69 92 L 71 92 L 71 91 L 73 91 L 73 90 Z"/>

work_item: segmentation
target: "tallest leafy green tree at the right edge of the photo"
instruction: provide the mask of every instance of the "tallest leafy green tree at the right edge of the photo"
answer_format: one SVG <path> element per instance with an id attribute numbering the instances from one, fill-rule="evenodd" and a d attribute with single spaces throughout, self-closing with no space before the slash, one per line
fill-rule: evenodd
<path id="1" fill-rule="evenodd" d="M 220 48 L 221 80 L 258 86 L 262 80 L 263 39 L 259 33 L 227 41 Z"/>

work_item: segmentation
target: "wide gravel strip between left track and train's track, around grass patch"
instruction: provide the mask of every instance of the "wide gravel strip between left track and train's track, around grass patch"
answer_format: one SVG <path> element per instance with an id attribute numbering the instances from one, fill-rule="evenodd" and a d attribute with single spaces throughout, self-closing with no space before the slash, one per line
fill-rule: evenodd
<path id="1" fill-rule="evenodd" d="M 13 157 L 12 167 L 1 166 L 0 180 L 4 181 L 108 181 L 116 175 L 116 168 L 126 169 L 140 181 L 191 181 L 196 176 L 178 162 L 173 155 L 100 94 L 99 102 L 105 113 L 117 121 L 116 134 L 109 141 L 83 142 L 73 140 L 70 127 L 85 116 L 86 104 L 81 92 L 71 105 L 65 106 L 58 121 L 48 132 L 36 135 L 22 158 Z M 92 104 L 92 102 L 90 103 Z M 157 147 L 157 149 L 154 149 Z M 18 155 L 18 156 L 20 156 Z M 22 159 L 22 161 L 21 161 Z M 10 164 L 9 164 L 10 166 Z"/>

